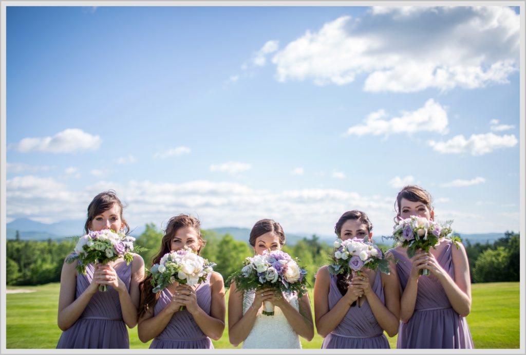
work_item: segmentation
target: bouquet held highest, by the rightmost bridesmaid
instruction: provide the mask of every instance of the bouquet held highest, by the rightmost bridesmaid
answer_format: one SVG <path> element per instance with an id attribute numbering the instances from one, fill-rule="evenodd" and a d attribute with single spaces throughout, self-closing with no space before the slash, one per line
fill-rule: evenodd
<path id="1" fill-rule="evenodd" d="M 411 216 L 410 218 L 400 219 L 393 227 L 393 238 L 398 240 L 402 247 L 407 248 L 407 256 L 412 258 L 418 249 L 429 252 L 429 249 L 437 245 L 440 238 L 446 238 L 451 234 L 452 220 L 444 223 L 435 222 L 425 217 Z M 454 245 L 459 247 L 461 239 L 454 236 L 450 239 Z M 420 275 L 429 275 L 428 269 L 420 270 Z"/>

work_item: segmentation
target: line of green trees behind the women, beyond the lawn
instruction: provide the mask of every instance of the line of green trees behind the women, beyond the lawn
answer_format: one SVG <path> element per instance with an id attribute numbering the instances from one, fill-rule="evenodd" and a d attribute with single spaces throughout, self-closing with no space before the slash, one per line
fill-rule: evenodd
<path id="1" fill-rule="evenodd" d="M 201 256 L 217 264 L 214 269 L 221 273 L 225 281 L 242 266 L 246 257 L 254 255 L 248 242 L 236 240 L 229 234 L 218 235 L 214 230 L 201 232 L 207 241 Z M 140 252 L 147 269 L 151 265 L 151 259 L 159 251 L 162 238 L 163 232 L 157 230 L 154 224 L 147 224 L 145 231 L 137 237 L 137 245 L 148 249 Z M 6 242 L 7 285 L 42 285 L 60 281 L 64 259 L 75 245 L 74 238 L 21 240 L 17 233 L 15 239 L 8 239 Z M 378 246 L 384 253 L 392 247 L 385 244 Z M 504 237 L 492 244 L 471 244 L 466 241 L 464 247 L 468 254 L 471 282 L 519 281 L 519 234 L 507 231 Z M 300 259 L 300 266 L 307 269 L 308 281 L 313 286 L 318 268 L 329 263 L 332 245 L 312 235 L 299 240 L 295 245 L 285 245 L 283 250 Z"/>

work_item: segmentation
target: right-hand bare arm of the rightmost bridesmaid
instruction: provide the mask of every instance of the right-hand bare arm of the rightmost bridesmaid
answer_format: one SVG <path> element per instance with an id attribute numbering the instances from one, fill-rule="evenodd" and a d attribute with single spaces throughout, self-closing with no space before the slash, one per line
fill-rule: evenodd
<path id="1" fill-rule="evenodd" d="M 449 302 L 453 309 L 461 317 L 466 317 L 471 311 L 471 280 L 469 277 L 469 263 L 466 249 L 459 244 L 459 249 L 454 245 L 451 246 L 451 256 L 454 265 L 453 280 L 444 270 L 434 256 L 429 253 L 428 269 L 440 280 L 440 284 L 446 291 Z"/>

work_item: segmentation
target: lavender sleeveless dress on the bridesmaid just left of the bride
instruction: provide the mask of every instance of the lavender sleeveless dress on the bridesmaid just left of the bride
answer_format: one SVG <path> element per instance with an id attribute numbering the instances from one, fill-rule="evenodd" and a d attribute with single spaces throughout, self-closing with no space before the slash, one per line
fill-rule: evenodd
<path id="1" fill-rule="evenodd" d="M 210 315 L 212 295 L 210 289 L 210 273 L 204 282 L 196 288 L 197 305 Z M 164 289 L 155 303 L 154 316 L 166 308 L 173 295 Z M 177 311 L 171 317 L 166 328 L 155 337 L 150 349 L 214 349 L 212 341 L 199 328 L 194 317 L 187 310 Z"/>

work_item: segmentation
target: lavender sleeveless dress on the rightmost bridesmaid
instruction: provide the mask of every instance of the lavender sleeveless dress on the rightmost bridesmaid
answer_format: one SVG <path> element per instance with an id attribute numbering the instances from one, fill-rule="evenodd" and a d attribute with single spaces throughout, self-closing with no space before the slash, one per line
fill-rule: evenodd
<path id="1" fill-rule="evenodd" d="M 452 242 L 436 258 L 454 280 L 451 254 Z M 411 273 L 411 261 L 395 249 L 390 249 L 397 263 L 400 288 L 406 288 Z M 440 281 L 433 275 L 418 280 L 414 313 L 407 323 L 400 322 L 397 349 L 473 349 L 473 340 L 466 318 L 453 310 Z"/>

